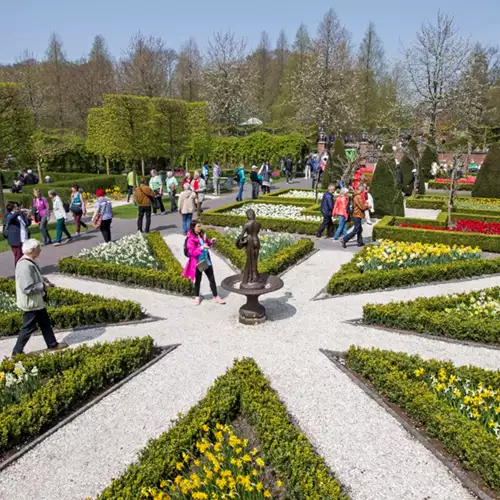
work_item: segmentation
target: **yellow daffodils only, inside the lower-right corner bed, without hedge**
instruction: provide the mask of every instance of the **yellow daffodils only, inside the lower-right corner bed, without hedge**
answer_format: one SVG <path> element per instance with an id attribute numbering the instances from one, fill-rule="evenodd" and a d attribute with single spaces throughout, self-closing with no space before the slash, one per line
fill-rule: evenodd
<path id="1" fill-rule="evenodd" d="M 474 385 L 469 380 L 448 374 L 444 368 L 437 374 L 418 368 L 414 375 L 425 380 L 429 388 L 450 406 L 478 421 L 500 439 L 500 390 L 492 386 L 484 387 L 481 382 Z"/>

